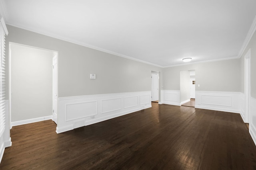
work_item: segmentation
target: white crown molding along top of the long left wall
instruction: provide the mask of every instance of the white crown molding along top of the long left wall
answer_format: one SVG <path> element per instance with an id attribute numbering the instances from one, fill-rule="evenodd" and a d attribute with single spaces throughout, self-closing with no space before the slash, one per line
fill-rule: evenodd
<path id="1" fill-rule="evenodd" d="M 90 44 L 86 44 L 86 43 L 83 43 L 83 42 L 80 42 L 80 41 L 76 41 L 74 39 L 66 39 L 66 38 L 63 38 L 63 37 L 60 37 L 58 35 L 54 35 L 52 33 L 48 33 L 48 32 L 44 32 L 44 31 L 38 31 L 38 30 L 34 30 L 34 29 L 30 29 L 28 27 L 23 27 L 23 26 L 20 26 L 20 25 L 16 25 L 16 24 L 13 24 L 13 23 L 10 23 L 10 22 L 7 22 L 8 25 L 11 25 L 11 26 L 14 26 L 14 27 L 18 27 L 18 28 L 21 28 L 21 29 L 25 29 L 27 31 L 32 31 L 34 33 L 39 33 L 39 34 L 42 34 L 42 35 L 46 35 L 48 37 L 52 37 L 52 38 L 56 38 L 56 39 L 60 39 L 62 41 L 67 41 L 67 42 L 70 42 L 70 43 L 74 43 L 74 44 L 77 44 L 77 45 L 81 45 L 81 46 L 84 46 L 84 47 L 88 47 L 90 49 L 95 49 L 95 50 L 98 50 L 98 51 L 102 51 L 102 52 L 105 52 L 105 53 L 109 53 L 109 54 L 112 54 L 112 55 L 116 55 L 116 56 L 119 56 L 119 57 L 124 57 L 126 59 L 130 59 L 130 60 L 134 60 L 134 61 L 138 61 L 140 63 L 145 63 L 145 64 L 149 64 L 149 65 L 152 65 L 152 66 L 157 66 L 157 67 L 160 67 L 160 68 L 163 68 L 163 66 L 160 66 L 160 65 L 157 65 L 157 64 L 153 64 L 153 63 L 149 63 L 149 62 L 146 62 L 146 61 L 143 61 L 143 60 L 139 60 L 139 59 L 136 59 L 136 58 L 133 58 L 133 57 L 129 57 L 129 56 L 126 56 L 126 55 L 122 55 L 122 54 L 119 54 L 119 53 L 115 53 L 113 51 L 109 51 L 109 50 L 106 50 L 106 49 L 103 49 L 103 48 L 100 48 L 100 47 L 96 47 L 94 45 L 90 45 Z"/>

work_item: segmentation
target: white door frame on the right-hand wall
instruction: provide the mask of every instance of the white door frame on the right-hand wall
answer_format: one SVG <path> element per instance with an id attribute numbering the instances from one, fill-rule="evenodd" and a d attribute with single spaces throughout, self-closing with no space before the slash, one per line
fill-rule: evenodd
<path id="1" fill-rule="evenodd" d="M 251 94 L 251 49 L 248 50 L 244 56 L 244 115 L 245 123 L 250 123 L 251 114 L 250 114 L 250 94 Z"/>

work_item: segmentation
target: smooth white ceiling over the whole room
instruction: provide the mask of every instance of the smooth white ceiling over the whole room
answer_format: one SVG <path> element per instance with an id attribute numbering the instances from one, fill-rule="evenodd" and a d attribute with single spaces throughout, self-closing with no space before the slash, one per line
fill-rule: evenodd
<path id="1" fill-rule="evenodd" d="M 1 1 L 9 25 L 163 67 L 240 57 L 256 16 L 256 0 Z"/>

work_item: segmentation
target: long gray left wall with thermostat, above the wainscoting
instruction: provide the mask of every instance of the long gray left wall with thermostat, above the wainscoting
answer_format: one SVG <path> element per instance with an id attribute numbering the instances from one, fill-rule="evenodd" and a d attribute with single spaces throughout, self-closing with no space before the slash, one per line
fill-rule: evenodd
<path id="1" fill-rule="evenodd" d="M 7 28 L 9 34 L 6 37 L 6 57 L 9 55 L 9 42 L 58 51 L 59 97 L 150 91 L 151 71 L 160 72 L 160 84 L 162 84 L 162 68 L 157 66 L 10 25 L 7 25 Z M 8 62 L 6 67 L 8 70 Z M 96 74 L 96 79 L 90 79 L 90 74 Z M 8 71 L 6 82 L 8 82 Z M 6 94 L 8 94 L 8 88 Z"/>

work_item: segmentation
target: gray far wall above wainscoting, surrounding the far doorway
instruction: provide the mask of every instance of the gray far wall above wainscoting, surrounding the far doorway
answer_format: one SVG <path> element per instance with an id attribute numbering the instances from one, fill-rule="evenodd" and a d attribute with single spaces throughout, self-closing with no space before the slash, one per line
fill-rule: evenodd
<path id="1" fill-rule="evenodd" d="M 196 70 L 196 90 L 240 92 L 240 59 L 164 68 L 164 90 L 180 90 L 182 70 Z"/>

